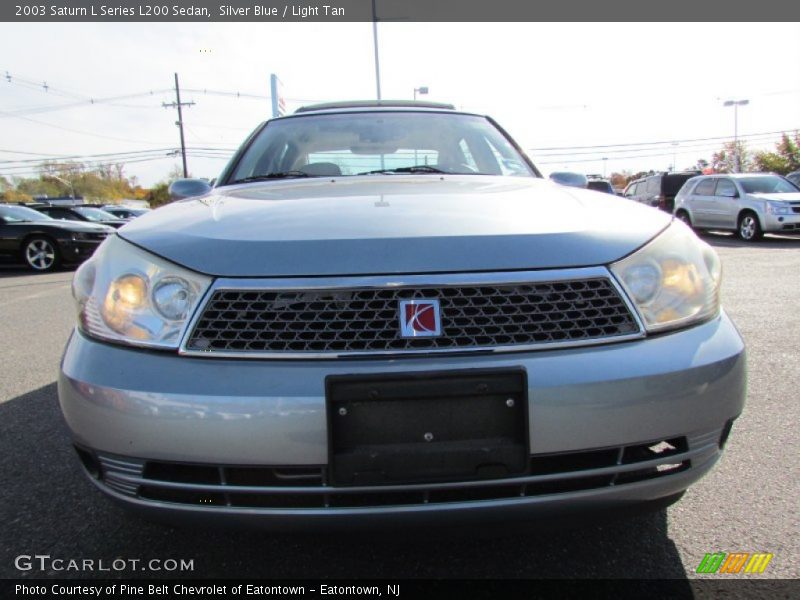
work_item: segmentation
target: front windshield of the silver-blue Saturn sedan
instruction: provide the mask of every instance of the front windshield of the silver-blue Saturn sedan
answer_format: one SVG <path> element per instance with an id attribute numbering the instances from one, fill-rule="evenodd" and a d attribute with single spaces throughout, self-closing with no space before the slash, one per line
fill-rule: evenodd
<path id="1" fill-rule="evenodd" d="M 225 183 L 409 173 L 534 176 L 512 143 L 484 117 L 373 111 L 271 121 Z"/>

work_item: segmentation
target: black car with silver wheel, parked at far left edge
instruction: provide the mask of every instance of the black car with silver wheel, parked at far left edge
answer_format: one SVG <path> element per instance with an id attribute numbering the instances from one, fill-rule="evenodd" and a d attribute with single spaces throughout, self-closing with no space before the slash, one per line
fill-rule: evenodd
<path id="1" fill-rule="evenodd" d="M 0 204 L 0 255 L 34 271 L 89 258 L 113 229 L 92 223 L 56 221 L 25 206 Z"/>

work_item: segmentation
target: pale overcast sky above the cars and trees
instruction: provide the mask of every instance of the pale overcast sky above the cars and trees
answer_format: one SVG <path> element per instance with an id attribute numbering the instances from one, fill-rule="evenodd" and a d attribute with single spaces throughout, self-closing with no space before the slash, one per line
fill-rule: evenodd
<path id="1" fill-rule="evenodd" d="M 738 111 L 742 136 L 800 128 L 797 23 L 380 23 L 378 32 L 384 98 L 428 86 L 422 99 L 489 114 L 545 173 L 668 169 L 673 153 L 689 167 L 721 142 L 688 140 L 733 136 L 728 99 L 750 100 Z M 179 146 L 177 115 L 161 106 L 174 94 L 158 91 L 177 71 L 183 88 L 241 94 L 182 97 L 195 102 L 184 112 L 187 145 L 214 149 L 193 150 L 189 170 L 214 177 L 225 159 L 198 155 L 227 155 L 269 118 L 270 73 L 290 111 L 374 98 L 373 56 L 370 23 L 0 23 L 0 161 L 140 151 L 160 158 L 126 173 L 152 185 L 179 164 L 162 156 Z M 123 95 L 133 97 L 87 100 Z M 747 139 L 772 148 L 778 136 Z M 663 144 L 575 148 L 649 142 Z M 554 147 L 565 149 L 541 150 Z M 34 170 L 0 162 L 0 175 Z"/>

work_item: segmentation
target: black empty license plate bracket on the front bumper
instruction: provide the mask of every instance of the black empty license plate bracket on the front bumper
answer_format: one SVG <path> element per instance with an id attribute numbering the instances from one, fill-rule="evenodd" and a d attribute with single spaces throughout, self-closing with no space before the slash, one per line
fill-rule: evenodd
<path id="1" fill-rule="evenodd" d="M 524 369 L 326 378 L 329 483 L 470 481 L 524 475 Z"/>

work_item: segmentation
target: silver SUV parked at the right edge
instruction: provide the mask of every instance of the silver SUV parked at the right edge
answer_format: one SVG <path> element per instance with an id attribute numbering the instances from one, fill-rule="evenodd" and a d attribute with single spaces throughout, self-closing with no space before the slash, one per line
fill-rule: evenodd
<path id="1" fill-rule="evenodd" d="M 800 232 L 800 190 L 779 175 L 703 175 L 675 198 L 675 216 L 698 229 L 735 231 L 748 242 L 765 232 Z"/>

